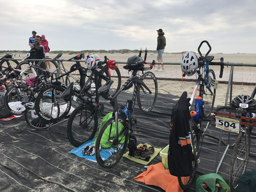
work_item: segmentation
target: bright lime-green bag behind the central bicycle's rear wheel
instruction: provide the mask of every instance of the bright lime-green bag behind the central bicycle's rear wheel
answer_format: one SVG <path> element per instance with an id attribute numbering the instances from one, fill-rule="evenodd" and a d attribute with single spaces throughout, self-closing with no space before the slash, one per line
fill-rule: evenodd
<path id="1" fill-rule="evenodd" d="M 103 117 L 99 130 L 102 128 L 102 125 L 106 121 L 108 121 L 108 119 L 110 119 L 112 117 L 112 114 L 113 114 L 113 112 L 108 113 L 107 115 L 105 115 Z M 122 128 L 123 128 L 122 123 L 118 122 L 118 131 L 120 132 L 122 130 Z M 115 122 L 112 123 L 112 128 L 111 128 L 111 125 L 109 125 L 108 128 L 106 128 L 104 134 L 102 135 L 102 139 L 100 141 L 100 145 L 102 146 L 102 148 L 112 147 L 112 143 L 108 142 L 108 136 L 109 136 L 110 129 L 111 129 L 111 134 L 110 135 L 113 136 L 116 133 L 116 123 Z M 121 139 L 122 136 L 123 135 L 119 135 L 119 139 Z M 122 138 L 121 144 L 123 144 L 124 141 L 125 141 L 125 137 Z M 95 144 L 95 142 L 94 142 L 94 144 Z"/>

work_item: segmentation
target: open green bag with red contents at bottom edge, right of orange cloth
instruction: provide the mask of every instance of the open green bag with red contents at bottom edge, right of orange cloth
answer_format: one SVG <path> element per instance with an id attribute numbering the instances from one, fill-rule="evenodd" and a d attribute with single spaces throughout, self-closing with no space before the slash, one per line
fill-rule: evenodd
<path id="1" fill-rule="evenodd" d="M 217 181 L 217 182 L 216 182 Z M 216 184 L 219 185 L 218 191 L 230 192 L 230 187 L 224 181 L 224 179 L 217 173 L 209 173 L 207 175 L 201 175 L 196 180 L 195 191 L 196 192 L 214 192 Z"/>

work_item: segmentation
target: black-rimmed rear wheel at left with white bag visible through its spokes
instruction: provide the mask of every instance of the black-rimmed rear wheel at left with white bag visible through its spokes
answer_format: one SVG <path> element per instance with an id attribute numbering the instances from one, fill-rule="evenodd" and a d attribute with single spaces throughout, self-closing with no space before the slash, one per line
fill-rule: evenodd
<path id="1" fill-rule="evenodd" d="M 35 100 L 35 111 L 40 119 L 46 122 L 56 122 L 67 116 L 71 108 L 71 101 L 66 102 L 61 97 L 64 90 L 59 86 L 55 86 L 55 89 L 47 87 L 38 94 Z M 52 98 L 54 92 L 55 97 Z"/>

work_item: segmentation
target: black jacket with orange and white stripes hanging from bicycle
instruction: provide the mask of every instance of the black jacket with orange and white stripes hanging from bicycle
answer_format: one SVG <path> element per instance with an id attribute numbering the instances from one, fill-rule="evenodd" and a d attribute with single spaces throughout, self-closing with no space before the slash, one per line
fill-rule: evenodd
<path id="1" fill-rule="evenodd" d="M 168 166 L 171 175 L 189 176 L 192 170 L 192 147 L 190 143 L 189 100 L 184 91 L 172 109 L 168 151 Z"/>

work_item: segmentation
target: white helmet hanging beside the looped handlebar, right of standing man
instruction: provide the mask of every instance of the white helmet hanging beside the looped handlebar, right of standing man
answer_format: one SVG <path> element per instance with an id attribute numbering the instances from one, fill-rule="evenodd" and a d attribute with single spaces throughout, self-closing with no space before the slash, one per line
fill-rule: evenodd
<path id="1" fill-rule="evenodd" d="M 180 62 L 180 67 L 187 76 L 194 75 L 198 68 L 197 56 L 193 52 L 186 52 Z"/>

